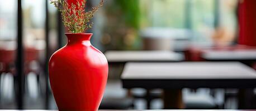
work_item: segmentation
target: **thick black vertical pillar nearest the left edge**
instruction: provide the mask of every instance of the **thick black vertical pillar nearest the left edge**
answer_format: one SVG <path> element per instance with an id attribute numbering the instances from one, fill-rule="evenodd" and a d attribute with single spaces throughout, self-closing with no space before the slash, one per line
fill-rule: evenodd
<path id="1" fill-rule="evenodd" d="M 23 109 L 23 92 L 24 92 L 24 74 L 23 74 L 23 46 L 22 46 L 22 5 L 21 0 L 18 1 L 17 13 L 17 107 Z"/>

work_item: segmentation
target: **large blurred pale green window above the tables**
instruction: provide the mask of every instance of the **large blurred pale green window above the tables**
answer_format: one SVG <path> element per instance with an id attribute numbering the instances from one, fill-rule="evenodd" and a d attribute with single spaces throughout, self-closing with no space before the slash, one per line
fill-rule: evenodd
<path id="1" fill-rule="evenodd" d="M 140 0 L 141 28 L 188 29 L 196 42 L 232 42 L 236 34 L 235 0 Z M 217 37 L 216 37 L 217 36 Z"/>

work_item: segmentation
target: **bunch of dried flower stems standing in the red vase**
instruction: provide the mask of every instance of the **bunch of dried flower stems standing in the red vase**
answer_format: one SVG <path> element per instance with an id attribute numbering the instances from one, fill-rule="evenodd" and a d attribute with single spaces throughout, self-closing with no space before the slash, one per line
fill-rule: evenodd
<path id="1" fill-rule="evenodd" d="M 56 8 L 61 12 L 64 26 L 68 28 L 70 33 L 83 33 L 89 28 L 92 28 L 93 23 L 90 20 L 94 17 L 94 13 L 97 12 L 98 8 L 103 6 L 104 0 L 101 0 L 97 6 L 92 8 L 92 11 L 86 12 L 84 7 L 86 0 L 77 4 L 68 4 L 65 0 L 52 0 L 50 2 L 54 4 Z"/>

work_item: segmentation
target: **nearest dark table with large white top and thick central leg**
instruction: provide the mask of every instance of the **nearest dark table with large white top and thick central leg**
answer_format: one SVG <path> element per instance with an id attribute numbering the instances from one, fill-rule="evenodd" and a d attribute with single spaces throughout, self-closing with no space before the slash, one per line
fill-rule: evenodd
<path id="1" fill-rule="evenodd" d="M 183 108 L 182 88 L 256 87 L 255 70 L 239 62 L 127 63 L 121 79 L 127 89 L 164 89 L 165 109 Z M 246 102 L 250 94 L 240 95 Z"/>

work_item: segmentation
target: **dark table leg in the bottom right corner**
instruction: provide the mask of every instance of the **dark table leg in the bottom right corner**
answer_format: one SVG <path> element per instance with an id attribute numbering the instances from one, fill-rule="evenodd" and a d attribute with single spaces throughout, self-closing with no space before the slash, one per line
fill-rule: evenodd
<path id="1" fill-rule="evenodd" d="M 253 89 L 239 89 L 238 109 L 252 109 L 254 107 L 253 99 Z"/>

